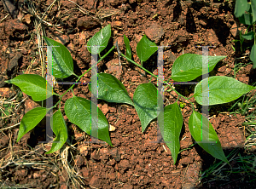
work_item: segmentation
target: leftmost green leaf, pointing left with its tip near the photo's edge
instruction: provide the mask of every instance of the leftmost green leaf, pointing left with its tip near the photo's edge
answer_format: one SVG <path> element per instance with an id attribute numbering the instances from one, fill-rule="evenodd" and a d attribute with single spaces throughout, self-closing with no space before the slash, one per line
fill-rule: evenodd
<path id="1" fill-rule="evenodd" d="M 52 86 L 46 82 L 45 78 L 36 74 L 22 74 L 6 81 L 6 83 L 17 85 L 22 92 L 32 96 L 32 100 L 35 101 L 45 100 L 55 94 L 52 92 Z"/>

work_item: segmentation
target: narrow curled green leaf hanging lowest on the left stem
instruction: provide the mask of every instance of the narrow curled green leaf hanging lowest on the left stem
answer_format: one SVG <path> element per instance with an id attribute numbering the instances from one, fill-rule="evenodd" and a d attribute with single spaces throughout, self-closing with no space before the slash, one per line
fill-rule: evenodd
<path id="1" fill-rule="evenodd" d="M 61 114 L 61 110 L 58 110 L 54 113 L 51 118 L 51 122 L 53 123 L 52 129 L 56 135 L 54 142 L 48 152 L 45 154 L 53 153 L 61 149 L 61 147 L 67 141 L 67 125 L 66 122 Z"/>

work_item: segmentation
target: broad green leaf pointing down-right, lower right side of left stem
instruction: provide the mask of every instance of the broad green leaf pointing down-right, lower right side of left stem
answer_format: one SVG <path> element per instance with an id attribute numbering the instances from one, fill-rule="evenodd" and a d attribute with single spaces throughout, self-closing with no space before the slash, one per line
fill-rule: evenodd
<path id="1" fill-rule="evenodd" d="M 92 106 L 96 106 L 96 104 L 92 103 L 90 100 L 86 100 L 81 97 L 73 96 L 73 98 L 68 99 L 64 106 L 67 118 L 70 120 L 70 122 L 78 125 L 79 128 L 84 130 L 84 132 L 88 135 L 91 135 L 90 119 L 92 119 L 92 123 L 95 124 L 98 121 L 98 135 L 94 135 L 93 132 L 92 136 L 100 140 L 104 140 L 110 146 L 113 146 L 108 133 L 107 118 L 99 108 L 97 108 L 98 120 L 96 120 L 94 117 L 91 117 L 90 104 L 92 104 Z"/>

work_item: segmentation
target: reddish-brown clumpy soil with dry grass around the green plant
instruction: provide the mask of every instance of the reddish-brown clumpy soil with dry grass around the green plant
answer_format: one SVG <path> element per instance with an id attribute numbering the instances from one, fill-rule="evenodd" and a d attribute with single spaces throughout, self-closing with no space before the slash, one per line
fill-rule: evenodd
<path id="1" fill-rule="evenodd" d="M 169 46 L 164 51 L 164 75 L 172 74 L 172 64 L 181 54 L 201 54 L 198 45 L 215 46 L 209 55 L 227 55 L 220 61 L 210 76 L 234 77 L 235 60 L 240 52 L 232 49 L 232 40 L 237 37 L 236 25 L 245 29 L 235 19 L 234 3 L 213 3 L 212 1 L 154 1 L 154 0 L 96 0 L 96 1 L 32 1 L 15 3 L 0 2 L 0 94 L 1 97 L 16 99 L 12 117 L 0 120 L 0 185 L 21 188 L 253 188 L 254 182 L 247 177 L 231 175 L 201 180 L 201 173 L 214 162 L 189 133 L 191 107 L 185 106 L 181 152 L 173 164 L 171 152 L 163 143 L 157 143 L 156 120 L 142 133 L 137 112 L 132 106 L 107 103 L 99 100 L 99 107 L 111 125 L 110 137 L 113 147 L 90 143 L 90 136 L 69 123 L 69 138 L 61 152 L 46 155 L 50 144 L 45 140 L 44 120 L 16 143 L 19 124 L 23 115 L 39 104 L 15 86 L 3 83 L 22 73 L 45 75 L 46 49 L 38 35 L 46 35 L 65 44 L 70 50 L 75 72 L 81 74 L 90 68 L 90 53 L 86 43 L 96 31 L 111 24 L 113 43 L 118 40 L 119 49 L 125 52 L 123 35 L 131 41 L 133 59 L 138 62 L 136 46 L 143 34 L 157 43 Z M 4 5 L 4 3 L 6 5 Z M 45 14 L 44 14 L 45 13 Z M 43 29 L 44 26 L 44 29 Z M 44 33 L 45 32 L 45 33 Z M 37 35 L 38 34 L 38 35 Z M 42 41 L 41 41 L 42 40 Z M 109 46 L 111 48 L 111 46 Z M 110 49 L 107 47 L 107 49 Z M 106 51 L 107 52 L 107 51 Z M 44 54 L 43 54 L 44 53 Z M 248 53 L 248 51 L 247 51 Z M 143 63 L 150 72 L 157 73 L 157 54 Z M 248 59 L 241 59 L 247 63 Z M 118 54 L 111 53 L 99 64 L 99 72 L 112 73 L 124 83 L 128 94 L 133 97 L 140 83 L 148 83 L 140 69 L 126 60 L 121 60 L 122 70 L 113 71 L 119 64 Z M 120 73 L 120 74 L 119 74 Z M 252 64 L 242 67 L 236 79 L 242 83 L 255 82 Z M 70 81 L 67 78 L 64 81 Z M 85 74 L 82 82 L 89 82 Z M 156 80 L 152 78 L 152 82 Z M 183 95 L 190 96 L 195 86 L 175 85 Z M 55 86 L 63 94 L 67 86 Z M 77 85 L 74 94 L 90 100 L 88 86 Z M 19 95 L 18 95 L 19 94 Z M 64 102 L 73 94 L 68 92 Z M 177 94 L 165 93 L 165 105 L 175 102 Z M 195 100 L 192 101 L 195 102 Z M 188 101 L 184 100 L 187 105 Z M 210 122 L 216 130 L 225 155 L 232 149 L 244 152 L 247 130 L 241 125 L 245 116 L 228 112 L 234 102 L 210 109 Z M 195 103 L 195 110 L 200 106 Z M 13 126 L 15 125 L 15 126 Z M 253 153 L 254 146 L 249 153 Z M 218 160 L 217 160 L 218 161 Z M 232 163 L 236 166 L 236 162 Z M 225 165 L 225 167 L 229 167 Z M 245 184 L 246 183 L 246 186 Z"/>

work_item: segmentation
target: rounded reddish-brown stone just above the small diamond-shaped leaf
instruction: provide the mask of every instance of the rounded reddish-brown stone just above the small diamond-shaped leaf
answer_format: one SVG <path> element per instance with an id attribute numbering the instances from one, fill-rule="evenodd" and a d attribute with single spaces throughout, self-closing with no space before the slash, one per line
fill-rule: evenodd
<path id="1" fill-rule="evenodd" d="M 165 34 L 165 31 L 162 26 L 154 23 L 146 29 L 145 34 L 151 41 L 157 43 L 159 42 L 160 38 Z"/>

